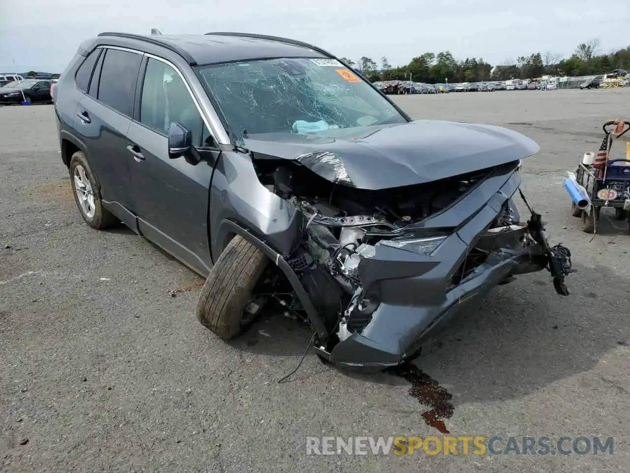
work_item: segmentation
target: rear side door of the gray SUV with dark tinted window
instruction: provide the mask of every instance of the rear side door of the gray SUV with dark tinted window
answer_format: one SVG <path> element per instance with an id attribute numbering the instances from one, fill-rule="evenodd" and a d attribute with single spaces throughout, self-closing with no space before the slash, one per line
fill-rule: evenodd
<path id="1" fill-rule="evenodd" d="M 105 48 L 98 57 L 89 88 L 79 101 L 74 125 L 86 143 L 103 204 L 134 229 L 131 158 L 126 148 L 142 57 L 142 53 L 132 50 Z"/>

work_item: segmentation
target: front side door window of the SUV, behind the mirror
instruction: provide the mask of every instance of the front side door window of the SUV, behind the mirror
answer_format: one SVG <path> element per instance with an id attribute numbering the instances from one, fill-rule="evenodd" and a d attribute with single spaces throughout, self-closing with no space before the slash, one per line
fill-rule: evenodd
<path id="1" fill-rule="evenodd" d="M 180 75 L 168 64 L 149 58 L 140 98 L 140 123 L 166 133 L 173 122 L 192 132 L 193 145 L 210 146 L 209 132 Z"/>

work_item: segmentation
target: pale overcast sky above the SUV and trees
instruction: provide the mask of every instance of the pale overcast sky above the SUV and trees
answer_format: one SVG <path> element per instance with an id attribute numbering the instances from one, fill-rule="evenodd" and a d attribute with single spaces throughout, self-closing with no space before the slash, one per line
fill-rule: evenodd
<path id="1" fill-rule="evenodd" d="M 424 52 L 493 65 L 547 51 L 570 55 L 599 38 L 608 52 L 630 44 L 625 1 L 333 2 L 282 0 L 0 0 L 0 72 L 61 72 L 81 40 L 103 31 L 164 34 L 238 31 L 285 36 L 357 62 L 394 66 Z M 611 9 L 613 11 L 611 11 Z M 178 18 L 178 16 L 180 18 Z"/>

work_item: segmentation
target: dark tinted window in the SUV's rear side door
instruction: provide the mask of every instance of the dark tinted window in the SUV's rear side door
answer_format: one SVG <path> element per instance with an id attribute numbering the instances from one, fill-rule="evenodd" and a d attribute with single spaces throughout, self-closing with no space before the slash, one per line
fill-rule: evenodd
<path id="1" fill-rule="evenodd" d="M 132 117 L 140 62 L 142 62 L 140 54 L 108 49 L 101 69 L 98 100 L 121 114 Z"/>

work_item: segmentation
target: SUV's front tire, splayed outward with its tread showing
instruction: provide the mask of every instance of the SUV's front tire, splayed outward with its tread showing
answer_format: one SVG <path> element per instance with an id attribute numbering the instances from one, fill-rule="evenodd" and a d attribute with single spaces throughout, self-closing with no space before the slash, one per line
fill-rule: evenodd
<path id="1" fill-rule="evenodd" d="M 245 308 L 268 262 L 268 257 L 243 237 L 232 238 L 203 284 L 197 320 L 223 340 L 240 334 Z"/>

